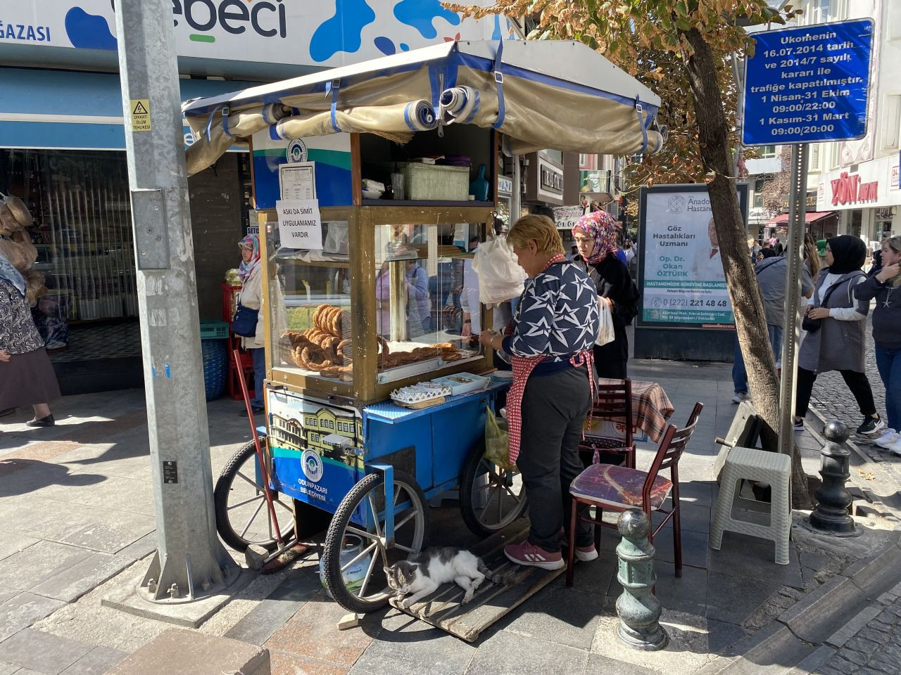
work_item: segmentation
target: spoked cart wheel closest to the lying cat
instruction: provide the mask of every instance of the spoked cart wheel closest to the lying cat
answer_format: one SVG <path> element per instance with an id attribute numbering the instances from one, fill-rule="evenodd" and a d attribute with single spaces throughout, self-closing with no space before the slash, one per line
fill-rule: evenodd
<path id="1" fill-rule="evenodd" d="M 325 536 L 325 587 L 351 612 L 385 607 L 391 592 L 383 568 L 421 551 L 427 539 L 425 495 L 415 479 L 395 472 L 394 495 L 387 505 L 385 497 L 385 477 L 370 473 L 338 505 Z M 394 510 L 395 519 L 390 548 L 385 543 L 386 507 Z"/>

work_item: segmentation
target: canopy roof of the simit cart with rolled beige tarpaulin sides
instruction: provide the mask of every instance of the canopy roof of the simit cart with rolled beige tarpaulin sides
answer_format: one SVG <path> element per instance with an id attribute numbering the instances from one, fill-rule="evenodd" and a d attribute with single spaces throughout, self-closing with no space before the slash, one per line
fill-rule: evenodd
<path id="1" fill-rule="evenodd" d="M 509 153 L 629 155 L 663 145 L 660 98 L 580 42 L 446 42 L 182 106 L 190 174 L 236 138 L 369 132 L 398 142 L 454 122 L 493 127 Z"/>

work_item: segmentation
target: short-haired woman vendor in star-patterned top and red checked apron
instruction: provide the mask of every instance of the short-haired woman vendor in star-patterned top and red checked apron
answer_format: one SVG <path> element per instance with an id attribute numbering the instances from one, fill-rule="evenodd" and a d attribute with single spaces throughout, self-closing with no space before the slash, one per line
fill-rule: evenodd
<path id="1" fill-rule="evenodd" d="M 558 570 L 569 483 L 583 466 L 578 457 L 592 398 L 592 352 L 598 330 L 595 284 L 563 254 L 553 221 L 529 215 L 507 233 L 528 279 L 512 335 L 484 330 L 479 342 L 509 355 L 514 383 L 507 394 L 510 461 L 523 476 L 532 525 L 522 544 L 506 545 L 508 559 Z M 579 521 L 579 560 L 597 557 L 591 528 Z"/>

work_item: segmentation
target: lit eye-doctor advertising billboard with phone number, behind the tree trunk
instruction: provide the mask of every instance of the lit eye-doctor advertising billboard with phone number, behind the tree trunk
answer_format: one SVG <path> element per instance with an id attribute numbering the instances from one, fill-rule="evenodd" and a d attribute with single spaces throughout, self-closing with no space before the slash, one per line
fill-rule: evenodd
<path id="1" fill-rule="evenodd" d="M 739 186 L 739 201 L 747 223 L 747 185 Z M 733 325 L 706 185 L 643 189 L 641 209 L 642 324 Z"/>

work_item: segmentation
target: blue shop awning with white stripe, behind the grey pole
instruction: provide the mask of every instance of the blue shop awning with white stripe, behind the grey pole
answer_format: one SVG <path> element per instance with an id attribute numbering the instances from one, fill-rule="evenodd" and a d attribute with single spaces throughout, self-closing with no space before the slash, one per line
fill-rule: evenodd
<path id="1" fill-rule="evenodd" d="M 0 148 L 125 149 L 117 74 L 0 67 L 0 82 Z M 222 94 L 252 84 L 179 82 L 183 98 Z M 185 133 L 190 133 L 187 127 Z"/>

